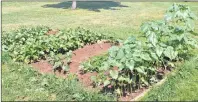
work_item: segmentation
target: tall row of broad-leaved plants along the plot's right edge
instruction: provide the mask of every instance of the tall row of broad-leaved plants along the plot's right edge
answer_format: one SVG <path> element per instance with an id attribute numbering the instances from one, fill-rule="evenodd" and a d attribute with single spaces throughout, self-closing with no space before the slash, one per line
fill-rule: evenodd
<path id="1" fill-rule="evenodd" d="M 148 87 L 158 82 L 159 69 L 175 67 L 174 62 L 187 59 L 198 48 L 193 38 L 196 19 L 188 6 L 173 4 L 164 20 L 142 24 L 146 41 L 131 36 L 121 46 L 111 47 L 101 64 L 89 68 L 84 62 L 82 70 L 97 71 L 98 75 L 92 77 L 94 85 L 103 85 L 117 96 Z"/>

